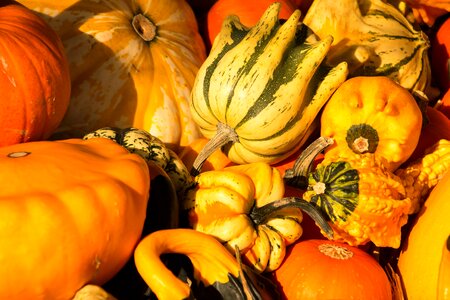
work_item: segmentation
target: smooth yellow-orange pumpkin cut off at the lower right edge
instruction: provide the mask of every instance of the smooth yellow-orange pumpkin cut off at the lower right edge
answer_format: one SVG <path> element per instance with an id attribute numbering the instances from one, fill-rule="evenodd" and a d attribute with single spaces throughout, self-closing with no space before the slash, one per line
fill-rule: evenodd
<path id="1" fill-rule="evenodd" d="M 447 173 L 414 219 L 399 255 L 398 269 L 410 300 L 438 299 L 439 267 L 450 234 L 449 195 L 450 173 Z"/>

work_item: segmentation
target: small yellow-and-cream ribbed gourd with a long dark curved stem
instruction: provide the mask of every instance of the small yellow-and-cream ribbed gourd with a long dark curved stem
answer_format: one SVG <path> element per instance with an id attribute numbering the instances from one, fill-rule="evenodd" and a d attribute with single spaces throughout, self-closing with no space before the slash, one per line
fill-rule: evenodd
<path id="1" fill-rule="evenodd" d="M 302 210 L 331 234 L 313 206 L 300 198 L 283 198 L 283 178 L 267 163 L 202 172 L 195 180 L 197 188 L 186 200 L 190 225 L 232 252 L 237 247 L 243 261 L 258 272 L 280 266 L 286 246 L 303 233 Z"/>

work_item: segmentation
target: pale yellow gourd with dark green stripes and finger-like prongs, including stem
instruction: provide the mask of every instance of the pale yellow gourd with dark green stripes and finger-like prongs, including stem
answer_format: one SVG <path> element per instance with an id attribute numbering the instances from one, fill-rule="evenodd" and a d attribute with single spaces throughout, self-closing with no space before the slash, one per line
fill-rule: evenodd
<path id="1" fill-rule="evenodd" d="M 199 170 L 211 149 L 231 161 L 275 163 L 298 150 L 316 116 L 346 79 L 347 64 L 323 64 L 333 38 L 318 39 L 300 23 L 300 11 L 278 19 L 279 3 L 247 28 L 228 17 L 192 89 L 191 113 L 210 142 L 194 162 Z"/>

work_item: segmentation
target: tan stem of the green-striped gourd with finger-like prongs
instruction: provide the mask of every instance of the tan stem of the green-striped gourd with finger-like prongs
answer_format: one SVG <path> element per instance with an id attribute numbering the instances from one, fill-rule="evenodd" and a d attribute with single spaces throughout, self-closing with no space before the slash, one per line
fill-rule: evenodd
<path id="1" fill-rule="evenodd" d="M 208 157 L 213 154 L 214 151 L 220 149 L 222 146 L 232 142 L 236 143 L 239 137 L 233 128 L 227 124 L 219 122 L 217 124 L 217 132 L 202 148 L 197 157 L 192 164 L 191 175 L 197 176 L 200 174 L 203 164 L 208 159 Z"/>

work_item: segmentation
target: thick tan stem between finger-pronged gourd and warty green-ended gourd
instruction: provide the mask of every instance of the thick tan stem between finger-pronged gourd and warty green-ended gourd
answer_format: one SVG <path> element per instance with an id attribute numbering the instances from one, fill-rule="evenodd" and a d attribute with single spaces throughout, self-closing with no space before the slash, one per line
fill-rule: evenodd
<path id="1" fill-rule="evenodd" d="M 284 182 L 290 186 L 306 189 L 308 186 L 308 174 L 311 171 L 314 159 L 333 142 L 332 138 L 322 136 L 313 141 L 295 160 L 294 166 L 286 170 Z"/>

